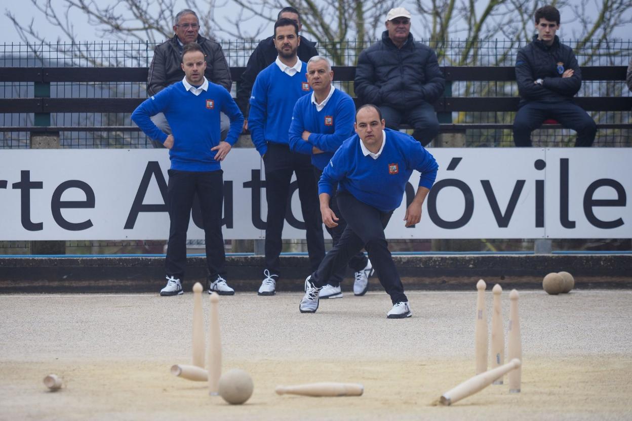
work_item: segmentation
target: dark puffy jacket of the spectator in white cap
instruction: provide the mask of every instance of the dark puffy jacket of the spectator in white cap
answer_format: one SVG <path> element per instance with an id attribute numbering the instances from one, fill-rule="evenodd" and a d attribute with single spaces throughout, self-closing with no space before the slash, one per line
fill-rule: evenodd
<path id="1" fill-rule="evenodd" d="M 437 55 L 413 35 L 399 49 L 389 38 L 363 50 L 358 57 L 355 93 L 363 104 L 389 105 L 404 109 L 441 97 L 446 80 Z"/>

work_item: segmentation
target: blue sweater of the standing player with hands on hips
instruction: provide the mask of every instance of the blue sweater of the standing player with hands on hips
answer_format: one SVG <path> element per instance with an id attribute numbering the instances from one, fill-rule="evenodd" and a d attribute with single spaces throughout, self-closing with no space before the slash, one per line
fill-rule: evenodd
<path id="1" fill-rule="evenodd" d="M 147 98 L 131 114 L 131 119 L 147 136 L 164 143 L 163 133 L 149 117 L 163 112 L 173 133 L 173 148 L 169 150 L 171 169 L 180 171 L 216 171 L 221 168 L 215 160 L 221 139 L 219 112 L 231 119 L 226 141 L 233 146 L 243 127 L 243 116 L 231 94 L 224 86 L 209 82 L 200 95 L 188 92 L 182 82 L 167 86 Z"/>

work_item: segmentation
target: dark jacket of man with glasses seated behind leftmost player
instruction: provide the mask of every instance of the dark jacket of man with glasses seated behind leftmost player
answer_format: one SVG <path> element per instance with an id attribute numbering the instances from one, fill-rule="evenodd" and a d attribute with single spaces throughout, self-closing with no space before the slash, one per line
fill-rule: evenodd
<path id="1" fill-rule="evenodd" d="M 202 47 L 206 59 L 204 76 L 209 82 L 224 86 L 230 92 L 233 81 L 222 46 L 202 35 L 198 35 L 197 43 Z M 154 59 L 147 75 L 147 95 L 155 95 L 167 86 L 183 80 L 185 72 L 180 67 L 181 55 L 176 35 L 155 48 Z"/>

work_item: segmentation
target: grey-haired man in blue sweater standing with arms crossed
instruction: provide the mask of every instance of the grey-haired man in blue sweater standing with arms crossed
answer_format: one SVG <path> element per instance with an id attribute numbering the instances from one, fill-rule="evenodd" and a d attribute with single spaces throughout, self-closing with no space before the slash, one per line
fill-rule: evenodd
<path id="1" fill-rule="evenodd" d="M 355 104 L 349 95 L 331 84 L 334 72 L 327 58 L 312 57 L 307 62 L 306 76 L 313 92 L 312 95 L 305 95 L 296 101 L 292 123 L 289 126 L 289 147 L 293 151 L 312 157 L 315 177 L 318 180 L 334 152 L 353 134 Z M 340 215 L 335 196 L 334 187 L 330 203 L 334 213 Z M 337 227 L 330 228 L 325 225 L 334 246 L 340 240 L 346 225 L 344 218 L 339 218 Z M 349 267 L 355 272 L 353 293 L 364 295 L 368 289 L 368 276 L 373 272 L 371 262 L 363 252 L 358 251 L 349 260 Z M 340 282 L 344 278 L 345 269 L 341 268 L 334 273 L 327 285 L 320 290 L 321 299 L 343 297 Z"/>

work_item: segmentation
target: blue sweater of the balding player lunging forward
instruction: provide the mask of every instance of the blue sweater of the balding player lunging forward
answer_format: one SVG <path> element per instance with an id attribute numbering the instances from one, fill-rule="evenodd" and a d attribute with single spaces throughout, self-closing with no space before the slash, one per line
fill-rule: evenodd
<path id="1" fill-rule="evenodd" d="M 357 134 L 346 139 L 322 172 L 319 194 L 331 195 L 339 182 L 340 191 L 347 191 L 359 201 L 389 212 L 401 204 L 413 170 L 421 173 L 420 187 L 432 187 L 439 169 L 435 158 L 412 136 L 391 129 L 384 131 L 386 145 L 377 159 L 362 154 Z"/>

